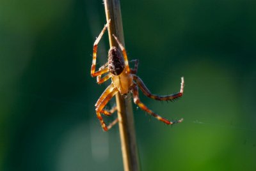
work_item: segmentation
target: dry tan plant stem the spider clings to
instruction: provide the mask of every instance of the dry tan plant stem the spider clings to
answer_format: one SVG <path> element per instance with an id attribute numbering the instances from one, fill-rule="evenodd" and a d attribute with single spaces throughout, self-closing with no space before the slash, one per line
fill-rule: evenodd
<path id="1" fill-rule="evenodd" d="M 124 43 L 124 32 L 122 26 L 122 16 L 119 0 L 104 0 L 107 21 L 111 19 L 108 27 L 109 45 L 110 47 L 118 47 L 113 34 Z M 129 94 L 131 96 L 131 94 Z M 132 112 L 131 98 L 123 98 L 120 93 L 116 94 L 116 107 L 118 111 L 118 124 L 120 131 L 122 156 L 125 171 L 140 170 L 138 159 L 138 150 L 136 145 L 136 135 L 134 130 L 134 119 Z"/>

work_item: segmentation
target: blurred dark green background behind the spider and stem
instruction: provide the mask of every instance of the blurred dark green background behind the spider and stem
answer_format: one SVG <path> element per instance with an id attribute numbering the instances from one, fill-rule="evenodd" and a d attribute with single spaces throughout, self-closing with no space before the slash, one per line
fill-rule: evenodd
<path id="1" fill-rule="evenodd" d="M 122 170 L 118 126 L 105 133 L 90 76 L 102 1 L 0 1 L 0 170 Z M 256 170 L 256 1 L 121 1 L 129 59 L 152 93 L 134 105 L 141 170 Z M 107 60 L 100 41 L 98 66 Z M 109 103 L 109 108 L 115 101 Z M 115 118 L 108 118 L 108 121 Z"/>

